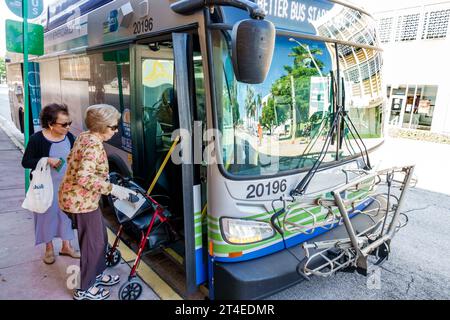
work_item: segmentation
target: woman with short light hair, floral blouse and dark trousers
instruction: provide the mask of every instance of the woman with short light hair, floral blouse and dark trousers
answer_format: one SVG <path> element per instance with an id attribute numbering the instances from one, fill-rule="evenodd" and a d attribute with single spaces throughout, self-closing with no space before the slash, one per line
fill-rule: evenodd
<path id="1" fill-rule="evenodd" d="M 103 142 L 118 131 L 120 117 L 110 105 L 93 105 L 86 110 L 85 123 L 89 130 L 75 141 L 59 187 L 59 206 L 74 217 L 80 243 L 81 288 L 75 290 L 75 300 L 107 299 L 109 290 L 99 286 L 112 286 L 120 281 L 119 276 L 103 275 L 108 238 L 99 209 L 102 194 L 127 199 L 134 193 L 108 181 L 108 158 Z"/>

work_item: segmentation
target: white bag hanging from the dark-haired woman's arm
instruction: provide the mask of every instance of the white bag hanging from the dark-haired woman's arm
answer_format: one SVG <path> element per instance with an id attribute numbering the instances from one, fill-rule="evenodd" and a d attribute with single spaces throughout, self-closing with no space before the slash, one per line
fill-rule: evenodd
<path id="1" fill-rule="evenodd" d="M 30 182 L 22 208 L 37 213 L 45 213 L 53 202 L 53 182 L 48 158 L 39 160 L 36 169 L 32 171 L 33 179 Z"/>

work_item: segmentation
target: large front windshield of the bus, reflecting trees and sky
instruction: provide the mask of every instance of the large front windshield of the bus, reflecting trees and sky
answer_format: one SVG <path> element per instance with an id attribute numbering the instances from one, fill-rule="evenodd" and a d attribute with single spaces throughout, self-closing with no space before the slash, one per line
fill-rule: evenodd
<path id="1" fill-rule="evenodd" d="M 335 45 L 277 36 L 265 82 L 249 85 L 234 76 L 230 32 L 214 30 L 212 35 L 216 120 L 227 173 L 272 176 L 311 167 L 322 152 L 334 117 Z M 382 99 L 364 104 L 353 99 L 351 79 L 344 77 L 341 82 L 349 90 L 345 96 L 352 122 L 366 146 L 373 147 L 382 137 Z M 354 101 L 359 101 L 356 108 Z M 323 163 L 360 153 L 356 137 L 346 130 L 343 136 L 342 147 L 338 150 L 333 143 Z"/>

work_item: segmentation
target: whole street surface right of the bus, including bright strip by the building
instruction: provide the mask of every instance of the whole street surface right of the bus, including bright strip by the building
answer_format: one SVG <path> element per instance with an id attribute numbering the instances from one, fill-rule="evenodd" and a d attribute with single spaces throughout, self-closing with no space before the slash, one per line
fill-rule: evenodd
<path id="1" fill-rule="evenodd" d="M 380 285 L 358 274 L 313 278 L 270 299 L 450 299 L 450 145 L 387 138 L 380 168 L 415 164 L 419 183 L 410 189 L 404 212 L 409 224 L 392 242 L 379 270 Z"/>

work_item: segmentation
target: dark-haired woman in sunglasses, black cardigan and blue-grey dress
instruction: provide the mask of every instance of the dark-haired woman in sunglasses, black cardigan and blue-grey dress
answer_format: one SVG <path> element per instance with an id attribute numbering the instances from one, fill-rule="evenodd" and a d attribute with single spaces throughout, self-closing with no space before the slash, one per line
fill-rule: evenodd
<path id="1" fill-rule="evenodd" d="M 22 166 L 34 170 L 39 160 L 47 157 L 47 163 L 52 168 L 53 203 L 45 213 L 34 214 L 36 245 L 46 244 L 43 260 L 46 264 L 52 264 L 55 262 L 53 239 L 57 237 L 62 239 L 60 255 L 80 258 L 80 254 L 70 244 L 70 240 L 74 238 L 72 221 L 58 206 L 58 188 L 66 171 L 65 161 L 75 137 L 69 132 L 72 122 L 66 105 L 52 103 L 45 106 L 40 119 L 43 129 L 30 137 Z"/>

